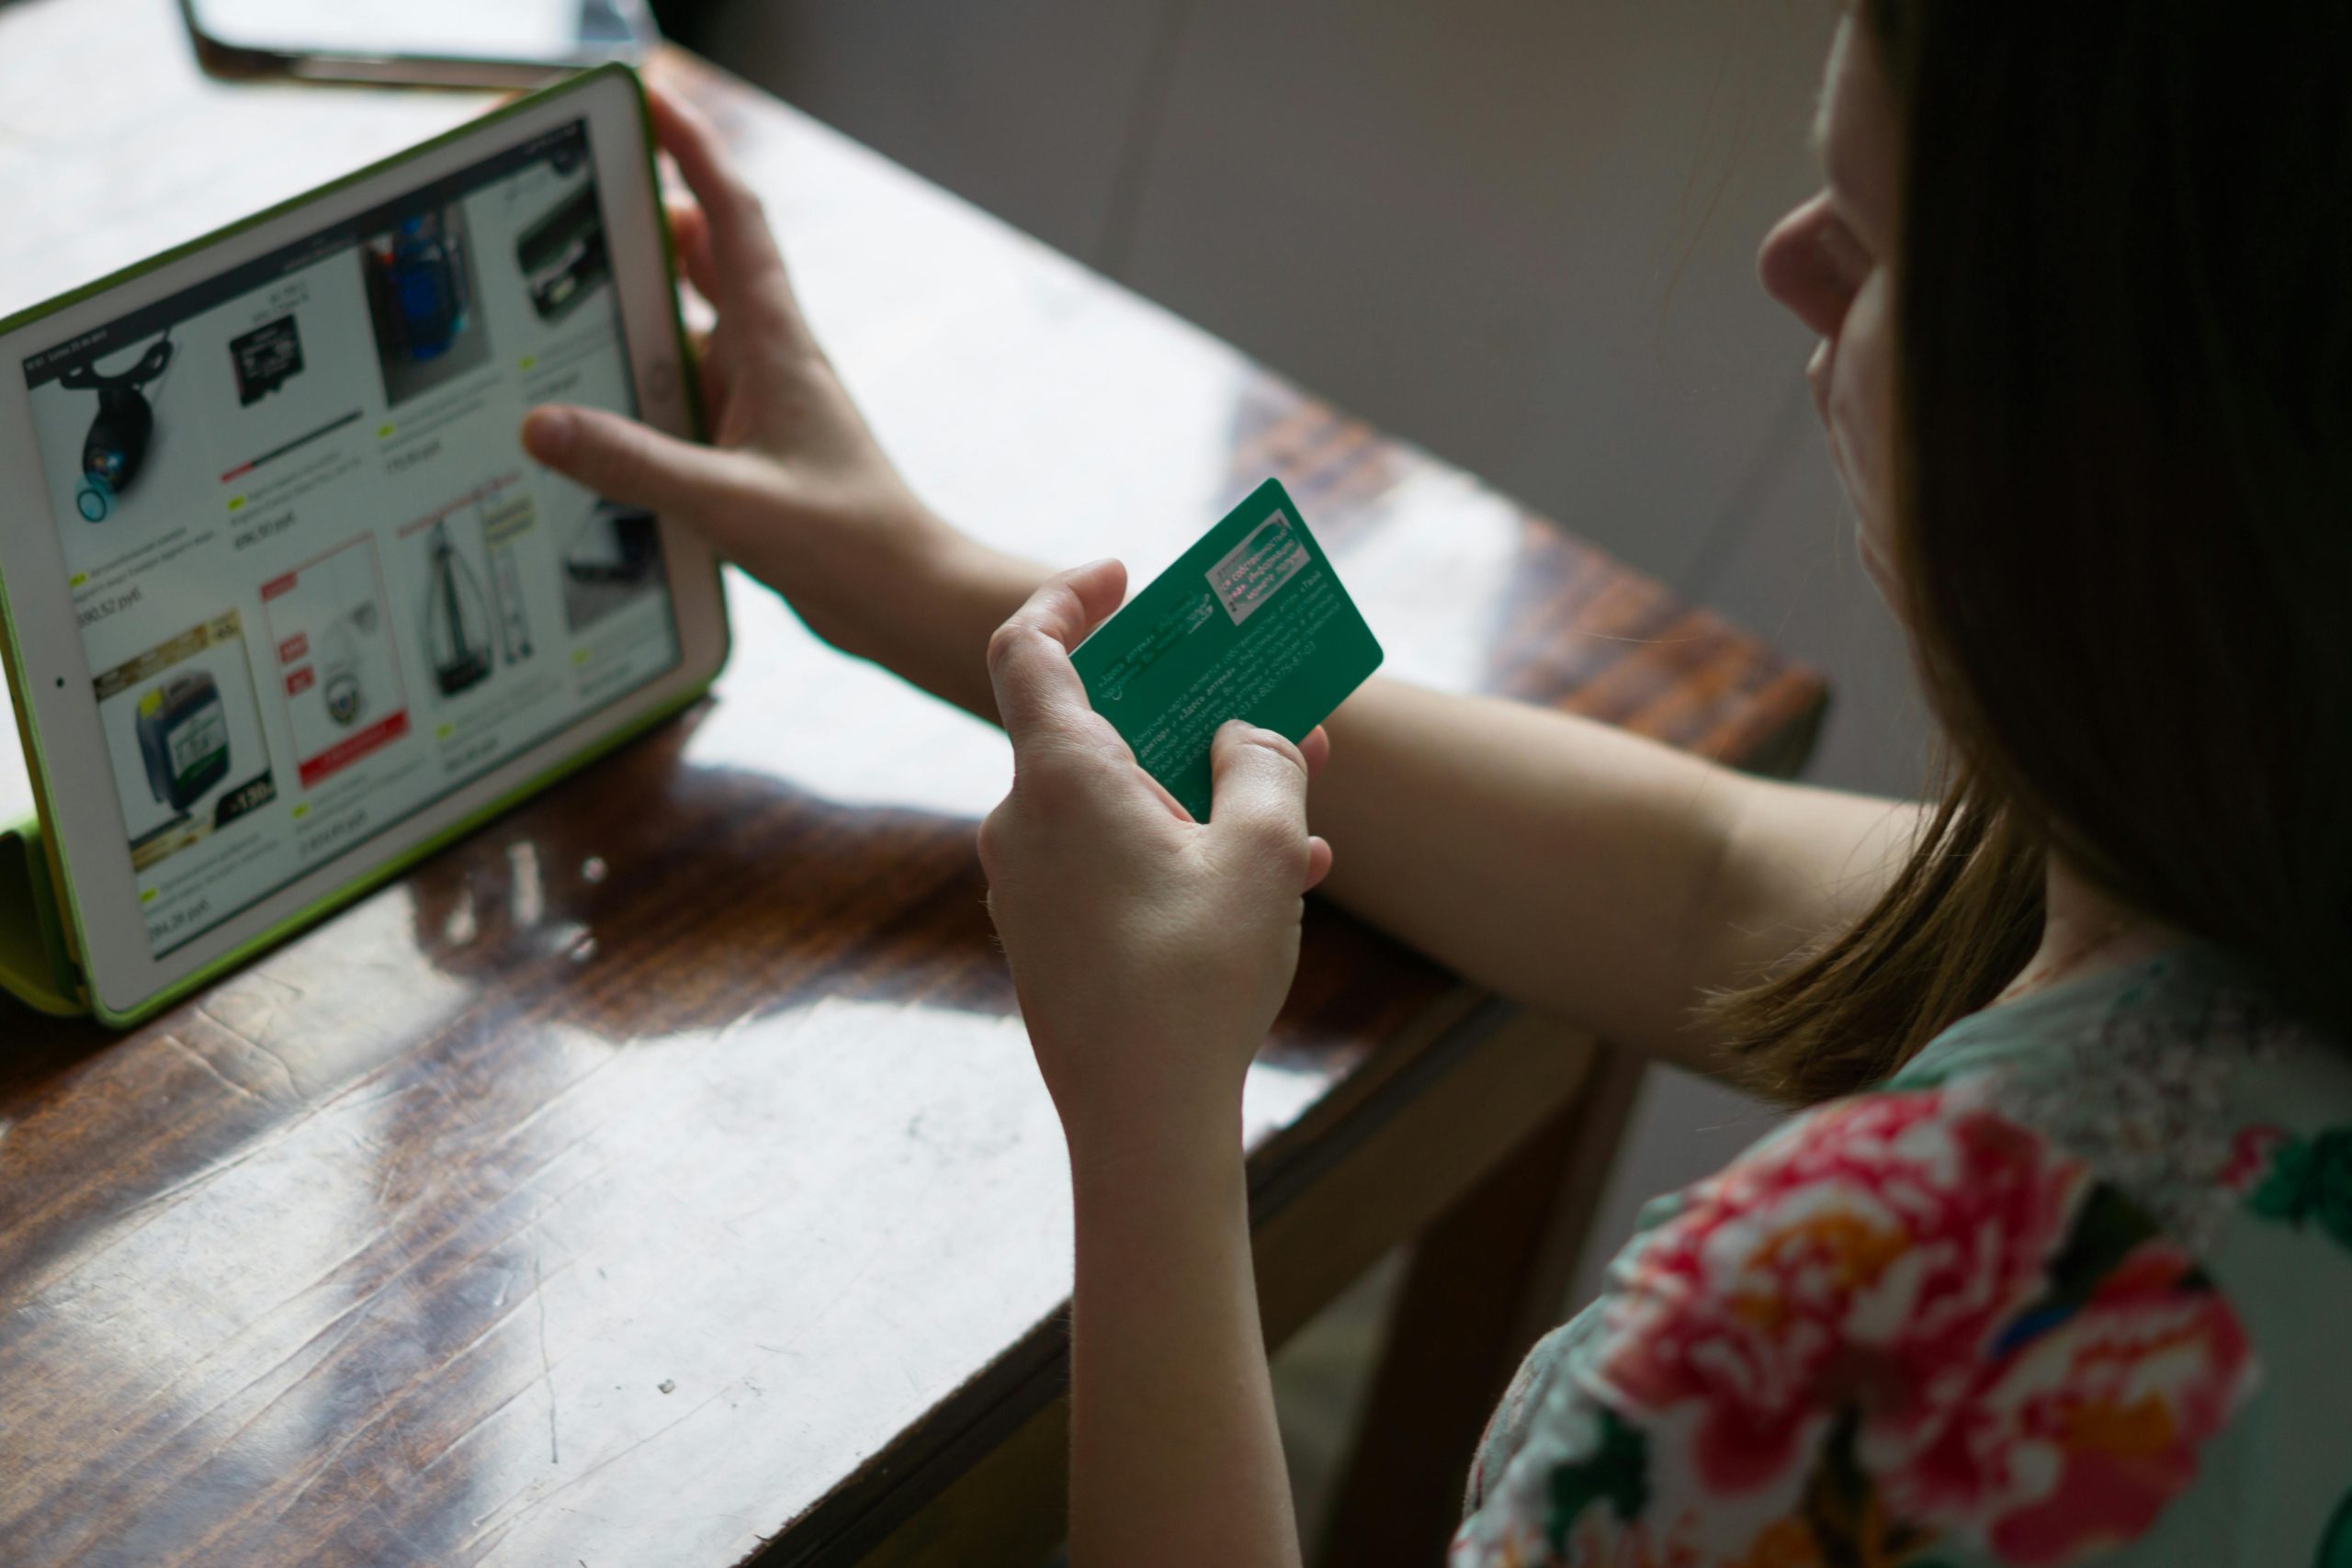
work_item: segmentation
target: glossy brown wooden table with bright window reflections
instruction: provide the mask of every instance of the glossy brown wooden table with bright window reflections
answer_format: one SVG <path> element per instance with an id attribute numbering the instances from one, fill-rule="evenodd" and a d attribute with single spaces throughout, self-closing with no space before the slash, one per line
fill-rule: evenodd
<path id="1" fill-rule="evenodd" d="M 950 517 L 1143 581 L 1277 473 L 1390 672 L 1802 757 L 1809 672 L 790 108 L 661 71 Z M 216 82 L 169 0 L 21 0 L 0 313 L 485 103 Z M 0 1001 L 0 1561 L 1021 1561 L 1058 1535 L 1068 1178 L 974 860 L 1002 738 L 748 583 L 729 602 L 713 701 L 146 1030 Z M 1630 1084 L 1310 910 L 1249 1079 L 1268 1333 L 1423 1237 L 1350 1561 L 1442 1537 Z"/>

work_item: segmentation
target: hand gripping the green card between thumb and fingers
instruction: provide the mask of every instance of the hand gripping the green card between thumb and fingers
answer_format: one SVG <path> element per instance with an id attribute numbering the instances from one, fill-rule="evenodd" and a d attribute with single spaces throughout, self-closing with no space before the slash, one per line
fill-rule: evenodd
<path id="1" fill-rule="evenodd" d="M 1087 701 L 1075 649 L 1127 590 L 1120 562 L 1049 578 L 988 644 L 1014 788 L 981 823 L 988 912 L 1073 1159 L 1240 1150 L 1242 1079 L 1298 966 L 1305 748 L 1216 733 L 1195 823 Z"/>

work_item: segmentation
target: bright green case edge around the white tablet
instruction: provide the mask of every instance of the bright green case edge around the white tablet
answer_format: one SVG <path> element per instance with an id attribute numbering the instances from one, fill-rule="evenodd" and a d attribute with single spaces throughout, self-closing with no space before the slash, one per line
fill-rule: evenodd
<path id="1" fill-rule="evenodd" d="M 249 219 L 230 223 L 228 228 L 219 228 L 219 230 L 214 230 L 209 235 L 202 235 L 200 240 L 191 240 L 188 244 L 181 244 L 181 247 L 169 249 L 169 252 L 165 252 L 160 256 L 153 256 L 153 259 L 148 259 L 148 261 L 143 261 L 143 263 L 139 263 L 134 268 L 127 268 L 122 273 L 113 273 L 111 277 L 101 277 L 101 280 L 96 280 L 96 282 L 92 282 L 87 287 L 80 287 L 80 289 L 71 292 L 71 294 L 61 294 L 59 299 L 52 299 L 47 303 L 33 306 L 31 310 L 24 310 L 19 315 L 0 320 L 0 334 L 14 331 L 16 327 L 35 322 L 42 315 L 49 315 L 54 310 L 64 310 L 66 306 L 71 306 L 75 301 L 82 301 L 82 299 L 89 299 L 92 294 L 99 294 L 103 289 L 113 289 L 118 284 L 125 284 L 132 277 L 151 273 L 158 266 L 176 261 L 176 259 L 181 259 L 181 256 L 186 256 L 191 252 L 205 249 L 207 244 L 226 240 L 228 235 L 242 233 L 242 230 L 247 230 L 247 228 L 252 228 L 256 223 L 268 223 L 270 219 L 275 219 L 280 214 L 287 214 L 287 212 L 292 212 L 292 209 L 310 202 L 313 197 L 325 195 L 327 190 L 341 190 L 341 188 L 353 186 L 358 181 L 376 179 L 379 174 L 400 167 L 402 162 L 416 158 L 419 153 L 430 153 L 433 148 L 440 148 L 440 146 L 447 146 L 452 141 L 473 136 L 485 125 L 496 125 L 499 120 L 506 120 L 508 115 L 522 113 L 527 108 L 539 108 L 550 96 L 576 92 L 581 85 L 593 82 L 597 78 L 604 78 L 604 75 L 623 75 L 623 78 L 630 80 L 633 87 L 637 85 L 635 71 L 630 71 L 628 66 L 597 66 L 595 71 L 583 71 L 581 75 L 574 75 L 574 78 L 567 78 L 564 82 L 557 82 L 555 87 L 548 87 L 543 92 L 534 92 L 534 94 L 529 94 L 524 99 L 517 99 L 513 103 L 494 108 L 492 113 L 487 113 L 487 115 L 482 115 L 477 120 L 468 120 L 466 125 L 461 125 L 461 127 L 456 127 L 452 132 L 442 132 L 440 136 L 435 136 L 430 141 L 421 141 L 414 148 L 409 148 L 407 153 L 395 153 L 393 158 L 386 158 L 386 160 L 374 162 L 374 165 L 369 165 L 365 169 L 346 174 L 343 179 L 339 179 L 339 181 L 334 181 L 329 186 L 320 186 L 318 190 L 308 190 L 308 193 L 303 193 L 303 195 L 289 200 L 289 202 L 280 202 L 278 207 L 270 207 L 268 212 L 256 212 Z M 642 87 L 637 87 L 637 113 L 640 113 L 640 118 L 644 122 L 647 169 L 652 172 L 654 122 L 652 122 L 652 115 L 644 113 L 644 92 L 642 92 Z M 659 174 L 656 174 L 656 190 L 659 190 Z M 675 275 L 675 256 L 668 256 L 668 244 L 670 244 L 668 226 L 663 226 L 661 242 L 663 242 L 666 261 L 668 261 L 668 266 L 670 266 L 670 270 Z M 677 355 L 680 355 L 680 362 L 684 364 L 684 362 L 689 362 L 687 324 L 677 315 L 675 296 L 673 296 L 673 306 L 670 306 L 670 327 L 677 334 Z M 694 421 L 694 433 L 696 433 L 696 437 L 701 437 L 703 430 L 706 430 L 706 425 L 703 425 L 701 402 L 696 400 L 694 390 L 696 390 L 694 388 L 694 378 L 687 376 L 687 409 L 689 409 L 689 416 Z M 724 625 L 720 628 L 720 637 L 722 637 L 720 661 L 724 663 L 724 654 L 727 654 L 727 642 L 724 642 L 727 632 L 724 632 Z M 261 954 L 263 950 L 275 947 L 278 943 L 282 943 L 285 938 L 294 936 L 296 931 L 310 926 L 313 922 L 332 914 L 334 910 L 339 910 L 346 903 L 360 898 L 362 893 L 369 893 L 376 886 L 390 882 L 393 877 L 397 877 L 407 867 L 416 865 L 419 860 L 423 860 L 433 851 L 452 844 L 454 839 L 466 837 L 468 832 L 473 832 L 475 827 L 480 827 L 489 818 L 499 816 L 501 811 L 520 804 L 529 795 L 536 795 L 539 790 L 543 790 L 546 785 L 555 783 L 564 773 L 572 773 L 574 769 L 586 766 L 588 762 L 602 757 L 604 752 L 614 750 L 616 745 L 621 745 L 626 741 L 633 741 L 637 733 L 642 733 L 644 729 L 649 729 L 649 726 L 659 724 L 661 719 L 670 717 L 673 712 L 677 712 L 680 708 L 684 708 L 687 703 L 696 701 L 703 693 L 703 686 L 694 686 L 694 689 L 687 689 L 687 691 L 677 693 L 675 701 L 670 701 L 663 708 L 644 715 L 635 724 L 628 724 L 628 726 L 614 731 L 612 736 L 604 736 L 595 745 L 590 745 L 590 748 L 586 748 L 586 750 L 567 757 L 562 764 L 557 764 L 555 769 L 548 769 L 539 778 L 532 778 L 529 783 L 524 783 L 513 795 L 494 799 L 487 806 L 482 806 L 480 811 L 470 813 L 468 818 L 463 818 L 459 823 L 452 823 L 449 827 L 445 827 L 442 832 L 433 835 L 430 839 L 426 839 L 416 849 L 412 849 L 412 851 L 407 851 L 402 856 L 395 856 L 393 860 L 388 860 L 388 863 L 369 870 L 365 877 L 358 877 L 350 884 L 336 889 L 334 893 L 329 893 L 327 898 L 318 900 L 315 905 L 301 910 L 292 919 L 285 919 L 278 926 L 270 926 L 268 931 L 263 931 L 261 936 L 252 938 L 249 943 L 242 943 L 240 947 L 221 954 L 212 964 L 205 964 L 202 969 L 198 969 L 195 973 L 186 976 L 183 980 L 176 980 L 172 987 L 158 992 L 155 997 L 148 997 L 146 1001 L 141 1001 L 132 1011 L 115 1013 L 115 1011 L 103 1009 L 103 1006 L 96 1004 L 96 999 L 89 992 L 87 980 L 82 978 L 82 966 L 80 966 L 78 945 L 75 945 L 75 936 L 73 936 L 75 933 L 75 924 L 78 924 L 75 917 L 73 917 L 73 882 L 71 882 L 71 877 L 66 872 L 64 858 L 56 853 L 56 846 L 49 842 L 49 835 L 45 830 L 45 813 L 47 813 L 47 799 L 49 799 L 47 769 L 42 766 L 40 736 L 33 729 L 31 705 L 24 701 L 24 693 L 21 693 L 21 686 L 19 686 L 21 672 L 24 672 L 24 651 L 16 646 L 16 623 L 14 623 L 14 616 L 9 616 L 9 611 L 7 611 L 7 583 L 5 581 L 0 581 L 0 665 L 5 665 L 5 672 L 7 672 L 9 701 L 16 708 L 16 733 L 24 741 L 24 762 L 26 762 L 26 771 L 33 778 L 33 797 L 35 797 L 35 802 L 40 806 L 35 811 L 35 816 L 31 816 L 31 818 L 26 818 L 21 823 L 0 825 L 0 987 L 14 992 L 26 1004 L 40 1009 L 42 1013 L 52 1013 L 52 1016 L 96 1013 L 103 1023 L 111 1023 L 111 1025 L 132 1025 L 132 1023 L 139 1023 L 141 1018 L 153 1016 L 165 1004 L 176 1001 L 179 997 L 186 997 L 188 992 L 193 992 L 195 987 L 205 985 L 207 980 L 226 973 L 228 969 L 235 969 L 238 964 L 249 961 L 252 957 Z"/>

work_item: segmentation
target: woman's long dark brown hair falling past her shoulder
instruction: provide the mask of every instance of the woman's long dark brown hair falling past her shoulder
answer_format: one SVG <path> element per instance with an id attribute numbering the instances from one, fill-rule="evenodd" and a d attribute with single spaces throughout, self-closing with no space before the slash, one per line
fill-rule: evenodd
<path id="1" fill-rule="evenodd" d="M 2016 976 L 2056 851 L 2345 1030 L 2352 12 L 1858 9 L 1950 785 L 1877 907 L 1715 1020 L 1780 1095 L 1860 1088 Z"/>

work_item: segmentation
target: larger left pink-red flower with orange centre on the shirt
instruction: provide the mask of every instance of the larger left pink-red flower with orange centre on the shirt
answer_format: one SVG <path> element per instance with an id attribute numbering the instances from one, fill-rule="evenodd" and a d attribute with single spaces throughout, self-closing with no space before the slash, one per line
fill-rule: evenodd
<path id="1" fill-rule="evenodd" d="M 2039 1293 L 2086 1180 L 1940 1091 L 1828 1105 L 1642 1248 L 1602 1375 L 1628 1408 L 1696 1403 L 1686 1462 L 1726 1495 L 1792 1488 L 1849 1403 L 1865 1455 L 1917 1453 Z"/>

